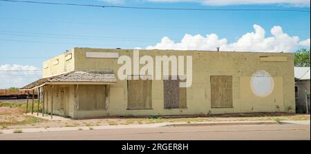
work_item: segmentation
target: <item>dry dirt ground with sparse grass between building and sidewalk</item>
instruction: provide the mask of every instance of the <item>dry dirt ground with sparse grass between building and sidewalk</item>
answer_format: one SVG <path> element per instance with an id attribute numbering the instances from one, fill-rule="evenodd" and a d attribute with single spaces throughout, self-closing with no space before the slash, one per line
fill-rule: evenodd
<path id="1" fill-rule="evenodd" d="M 29 108 L 29 107 L 28 107 Z M 310 115 L 296 115 L 293 113 L 234 113 L 223 115 L 201 116 L 148 116 L 148 117 L 104 117 L 86 120 L 44 120 L 31 115 L 23 115 L 25 103 L 1 102 L 0 100 L 0 129 L 21 129 L 40 127 L 66 126 L 103 126 L 117 124 L 151 124 L 158 122 L 210 122 L 210 121 L 245 121 L 245 120 L 310 120 Z M 37 109 L 37 107 L 35 107 Z"/>

